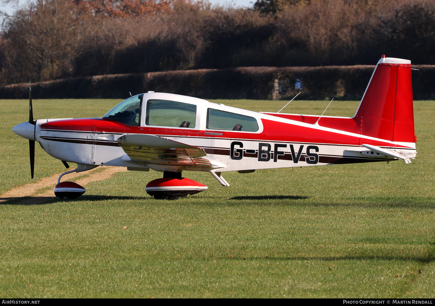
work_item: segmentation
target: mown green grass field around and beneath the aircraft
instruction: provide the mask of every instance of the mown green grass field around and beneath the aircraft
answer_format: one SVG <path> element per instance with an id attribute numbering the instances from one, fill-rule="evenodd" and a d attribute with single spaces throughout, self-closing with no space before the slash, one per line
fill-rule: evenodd
<path id="1" fill-rule="evenodd" d="M 117 100 L 35 100 L 35 118 L 101 116 Z M 284 101 L 217 101 L 278 111 Z M 12 133 L 26 100 L 0 100 L 1 192 L 30 182 Z M 285 112 L 321 114 L 329 101 Z M 325 115 L 349 116 L 356 101 Z M 415 101 L 417 159 L 184 176 L 209 186 L 178 201 L 128 171 L 76 201 L 0 206 L 2 297 L 435 297 L 434 101 Z M 35 179 L 64 171 L 36 148 Z M 127 229 L 123 229 L 127 226 Z"/>

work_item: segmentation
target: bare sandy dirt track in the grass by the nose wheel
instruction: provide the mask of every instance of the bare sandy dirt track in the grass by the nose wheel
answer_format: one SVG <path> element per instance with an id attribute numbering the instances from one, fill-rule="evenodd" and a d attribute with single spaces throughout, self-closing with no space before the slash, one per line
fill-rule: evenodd
<path id="1" fill-rule="evenodd" d="M 87 183 L 103 181 L 107 178 L 111 178 L 117 172 L 125 171 L 127 171 L 125 167 L 104 166 L 103 169 L 97 167 L 86 172 L 66 174 L 62 177 L 61 181 L 73 181 L 79 185 L 85 186 Z M 57 184 L 59 175 L 60 173 L 57 173 L 48 178 L 42 178 L 36 183 L 13 188 L 0 195 L 0 204 L 37 205 L 55 200 L 57 197 L 54 195 L 53 189 Z M 85 177 L 79 178 L 83 175 L 85 175 Z M 75 180 L 75 178 L 78 179 Z"/>

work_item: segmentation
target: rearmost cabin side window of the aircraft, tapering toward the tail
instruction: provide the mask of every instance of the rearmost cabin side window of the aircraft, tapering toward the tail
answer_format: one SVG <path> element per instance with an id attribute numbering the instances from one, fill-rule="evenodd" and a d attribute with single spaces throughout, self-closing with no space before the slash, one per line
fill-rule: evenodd
<path id="1" fill-rule="evenodd" d="M 257 119 L 241 114 L 234 114 L 228 111 L 218 111 L 217 109 L 207 109 L 207 125 L 210 130 L 226 131 L 258 131 Z"/>

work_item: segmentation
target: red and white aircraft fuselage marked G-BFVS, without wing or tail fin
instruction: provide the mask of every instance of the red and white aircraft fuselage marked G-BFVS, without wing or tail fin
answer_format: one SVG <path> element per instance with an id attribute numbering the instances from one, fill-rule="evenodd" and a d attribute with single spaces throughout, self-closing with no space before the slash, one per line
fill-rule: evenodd
<path id="1" fill-rule="evenodd" d="M 168 126 L 162 125 L 165 124 L 163 119 L 154 120 L 150 115 L 153 114 L 151 101 L 189 105 L 194 110 L 189 113 L 190 126 L 184 124 L 187 119 L 181 121 L 184 114 L 181 108 L 181 122 L 171 121 L 169 117 L 174 117 L 173 112 L 168 115 Z M 164 112 L 159 113 L 159 118 L 164 118 L 164 115 Z M 113 115 L 108 117 L 39 119 L 36 121 L 34 140 L 49 155 L 63 161 L 152 168 L 157 171 L 166 170 L 162 170 L 161 164 L 131 161 L 117 139 L 126 134 L 149 134 L 185 143 L 203 149 L 209 160 L 221 162 L 221 171 L 395 160 L 370 151 L 363 144 L 399 151 L 407 158 L 415 157 L 416 153 L 413 142 L 362 135 L 358 118 L 322 117 L 318 124 L 313 124 L 319 116 L 258 113 L 176 94 L 143 94 L 136 123 L 131 121 L 135 126 L 114 120 L 116 117 Z M 248 131 L 244 131 L 243 127 L 229 130 L 228 126 L 232 127 L 231 124 L 237 123 L 237 120 L 241 120 L 242 124 L 235 124 L 234 129 L 241 125 Z M 179 127 L 179 124 L 184 126 Z M 208 171 L 197 165 L 178 165 L 170 171 L 174 169 Z"/>

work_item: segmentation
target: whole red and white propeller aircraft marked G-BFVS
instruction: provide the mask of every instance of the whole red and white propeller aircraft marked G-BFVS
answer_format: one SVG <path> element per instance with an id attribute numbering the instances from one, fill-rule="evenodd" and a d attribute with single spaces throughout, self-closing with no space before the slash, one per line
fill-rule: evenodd
<path id="1" fill-rule="evenodd" d="M 146 186 L 155 198 L 204 191 L 181 177 L 206 171 L 223 186 L 224 171 L 335 165 L 415 158 L 411 61 L 378 61 L 355 116 L 331 117 L 247 111 L 203 99 L 148 91 L 124 100 L 101 118 L 38 119 L 13 131 L 29 139 L 33 178 L 34 142 L 54 158 L 77 163 L 80 172 L 100 165 L 163 172 Z M 60 183 L 55 194 L 85 191 Z"/>

